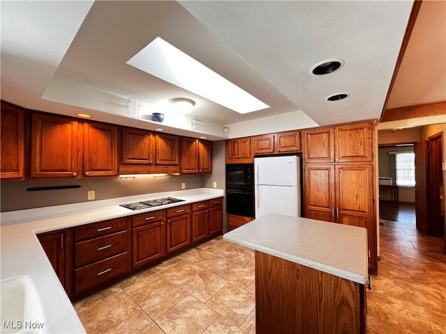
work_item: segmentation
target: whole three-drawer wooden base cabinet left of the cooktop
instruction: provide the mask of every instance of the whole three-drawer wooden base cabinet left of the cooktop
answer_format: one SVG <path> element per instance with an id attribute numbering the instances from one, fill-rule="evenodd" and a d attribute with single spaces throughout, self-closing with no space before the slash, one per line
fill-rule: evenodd
<path id="1" fill-rule="evenodd" d="M 125 217 L 75 228 L 75 294 L 84 294 L 130 271 L 129 225 Z"/>

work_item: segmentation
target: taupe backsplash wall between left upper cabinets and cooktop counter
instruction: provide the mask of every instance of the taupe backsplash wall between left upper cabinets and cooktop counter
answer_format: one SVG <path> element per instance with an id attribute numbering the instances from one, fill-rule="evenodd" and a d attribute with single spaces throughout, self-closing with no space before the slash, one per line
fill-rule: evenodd
<path id="1" fill-rule="evenodd" d="M 95 191 L 95 200 L 106 200 L 144 193 L 176 191 L 185 183 L 186 189 L 201 188 L 202 175 L 137 175 L 135 178 L 92 178 L 63 180 L 25 180 L 1 182 L 1 212 L 32 209 L 77 202 L 86 202 L 88 191 Z M 40 187 L 80 186 L 72 189 L 29 191 Z"/>

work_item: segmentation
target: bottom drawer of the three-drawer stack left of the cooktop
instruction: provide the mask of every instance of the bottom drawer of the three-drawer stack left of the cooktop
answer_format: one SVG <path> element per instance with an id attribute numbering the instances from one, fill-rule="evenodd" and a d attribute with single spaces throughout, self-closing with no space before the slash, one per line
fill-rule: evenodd
<path id="1" fill-rule="evenodd" d="M 75 270 L 75 293 L 82 292 L 130 270 L 128 252 Z"/>

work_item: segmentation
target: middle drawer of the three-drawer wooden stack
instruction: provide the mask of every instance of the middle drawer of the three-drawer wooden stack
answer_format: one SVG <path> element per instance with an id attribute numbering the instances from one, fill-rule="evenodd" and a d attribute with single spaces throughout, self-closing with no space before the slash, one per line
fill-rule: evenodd
<path id="1" fill-rule="evenodd" d="M 116 232 L 75 245 L 75 267 L 105 259 L 128 250 L 128 231 Z"/>

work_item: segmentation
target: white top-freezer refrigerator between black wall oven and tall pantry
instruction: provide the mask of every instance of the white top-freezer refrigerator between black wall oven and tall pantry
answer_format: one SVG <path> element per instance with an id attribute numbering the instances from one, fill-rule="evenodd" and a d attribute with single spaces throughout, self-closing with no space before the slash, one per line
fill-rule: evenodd
<path id="1" fill-rule="evenodd" d="M 255 218 L 300 214 L 300 157 L 254 158 Z"/>

